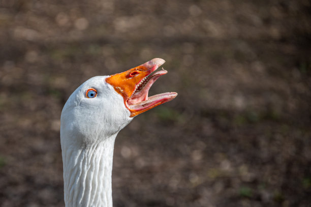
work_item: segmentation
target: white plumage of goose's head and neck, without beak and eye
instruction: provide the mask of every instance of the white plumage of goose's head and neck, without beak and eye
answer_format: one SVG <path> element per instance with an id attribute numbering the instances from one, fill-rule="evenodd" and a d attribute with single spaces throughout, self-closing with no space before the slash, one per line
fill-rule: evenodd
<path id="1" fill-rule="evenodd" d="M 114 140 L 133 118 L 122 96 L 93 77 L 69 97 L 60 119 L 64 199 L 69 206 L 112 206 L 111 171 Z M 86 98 L 89 88 L 96 98 Z"/>

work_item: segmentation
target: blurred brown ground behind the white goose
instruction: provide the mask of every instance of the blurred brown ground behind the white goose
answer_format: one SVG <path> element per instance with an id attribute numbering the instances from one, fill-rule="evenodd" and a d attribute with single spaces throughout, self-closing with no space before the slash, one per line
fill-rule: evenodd
<path id="1" fill-rule="evenodd" d="M 0 206 L 64 206 L 60 112 L 154 57 L 175 100 L 115 142 L 114 206 L 311 206 L 311 3 L 0 1 Z"/>

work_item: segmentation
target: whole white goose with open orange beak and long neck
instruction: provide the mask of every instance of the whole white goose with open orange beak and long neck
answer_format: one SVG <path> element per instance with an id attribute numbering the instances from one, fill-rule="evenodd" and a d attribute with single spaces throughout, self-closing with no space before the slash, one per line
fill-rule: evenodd
<path id="1" fill-rule="evenodd" d="M 177 93 L 148 97 L 151 85 L 167 73 L 154 58 L 138 67 L 82 83 L 60 116 L 64 200 L 69 206 L 112 206 L 112 160 L 118 132 L 133 117 L 166 103 Z"/>

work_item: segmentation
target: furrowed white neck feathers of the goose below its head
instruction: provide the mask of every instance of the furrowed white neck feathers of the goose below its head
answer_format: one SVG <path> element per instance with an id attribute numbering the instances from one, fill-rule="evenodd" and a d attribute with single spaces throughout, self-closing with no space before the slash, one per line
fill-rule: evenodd
<path id="1" fill-rule="evenodd" d="M 69 206 L 112 206 L 111 172 L 116 134 L 83 149 L 63 149 L 64 199 Z"/>

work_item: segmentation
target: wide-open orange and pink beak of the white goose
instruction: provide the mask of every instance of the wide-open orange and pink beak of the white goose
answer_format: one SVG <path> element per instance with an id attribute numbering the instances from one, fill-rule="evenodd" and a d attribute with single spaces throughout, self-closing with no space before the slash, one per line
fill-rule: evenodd
<path id="1" fill-rule="evenodd" d="M 106 78 L 106 82 L 111 84 L 114 90 L 123 97 L 125 106 L 131 111 L 131 117 L 168 102 L 177 96 L 175 92 L 168 92 L 148 97 L 151 85 L 161 75 L 167 73 L 163 68 L 161 71 L 154 72 L 164 63 L 163 59 L 154 58 L 138 67 Z"/>

